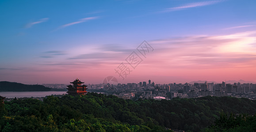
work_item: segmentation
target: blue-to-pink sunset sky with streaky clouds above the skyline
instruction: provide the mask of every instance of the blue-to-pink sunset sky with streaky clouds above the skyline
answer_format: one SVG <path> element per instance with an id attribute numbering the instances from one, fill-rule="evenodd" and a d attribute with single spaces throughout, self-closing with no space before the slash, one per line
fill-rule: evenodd
<path id="1" fill-rule="evenodd" d="M 256 82 L 255 0 L 1 0 L 0 81 Z"/>

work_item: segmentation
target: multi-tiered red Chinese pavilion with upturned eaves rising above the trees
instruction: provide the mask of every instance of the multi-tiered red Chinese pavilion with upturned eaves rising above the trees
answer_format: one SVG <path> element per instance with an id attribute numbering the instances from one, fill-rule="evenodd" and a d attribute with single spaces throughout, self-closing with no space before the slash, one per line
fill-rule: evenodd
<path id="1" fill-rule="evenodd" d="M 75 81 L 70 82 L 73 85 L 68 85 L 68 94 L 69 95 L 85 95 L 87 93 L 86 85 L 82 85 L 84 82 L 81 82 L 78 78 Z"/>

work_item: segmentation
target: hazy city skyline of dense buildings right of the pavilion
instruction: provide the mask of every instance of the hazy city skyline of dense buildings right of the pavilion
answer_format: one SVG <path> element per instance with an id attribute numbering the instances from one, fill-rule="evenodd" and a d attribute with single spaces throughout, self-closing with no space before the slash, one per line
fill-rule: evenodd
<path id="1" fill-rule="evenodd" d="M 256 84 L 239 82 L 234 84 L 194 83 L 194 84 L 155 84 L 149 80 L 127 84 L 91 85 L 92 89 L 104 89 L 112 91 L 122 99 L 172 99 L 172 98 L 196 98 L 203 96 L 233 96 L 237 98 L 256 99 Z"/>

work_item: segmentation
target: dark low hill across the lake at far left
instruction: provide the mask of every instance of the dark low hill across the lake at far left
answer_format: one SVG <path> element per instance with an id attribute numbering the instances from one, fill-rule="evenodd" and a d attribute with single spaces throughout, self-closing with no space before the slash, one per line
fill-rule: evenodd
<path id="1" fill-rule="evenodd" d="M 16 82 L 0 81 L 0 92 L 51 91 L 43 85 L 27 85 Z"/>

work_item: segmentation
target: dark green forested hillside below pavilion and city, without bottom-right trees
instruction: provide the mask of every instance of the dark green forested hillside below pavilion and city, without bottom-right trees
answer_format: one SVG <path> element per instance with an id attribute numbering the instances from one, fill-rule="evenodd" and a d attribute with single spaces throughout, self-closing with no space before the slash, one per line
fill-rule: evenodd
<path id="1" fill-rule="evenodd" d="M 15 99 L 5 102 L 5 110 L 0 122 L 3 132 L 156 132 L 170 128 L 199 132 L 213 124 L 222 113 L 255 114 L 256 101 L 210 96 L 132 101 L 88 93 L 75 97 L 48 96 L 43 102 Z"/>

